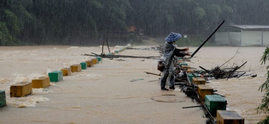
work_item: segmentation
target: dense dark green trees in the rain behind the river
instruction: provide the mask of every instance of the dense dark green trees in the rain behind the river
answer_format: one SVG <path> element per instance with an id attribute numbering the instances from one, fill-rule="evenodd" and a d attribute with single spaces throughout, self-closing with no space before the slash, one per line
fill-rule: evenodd
<path id="1" fill-rule="evenodd" d="M 268 12 L 268 0 L 1 0 L 0 46 L 96 45 L 131 25 L 147 36 L 204 35 L 224 19 L 269 25 Z"/>

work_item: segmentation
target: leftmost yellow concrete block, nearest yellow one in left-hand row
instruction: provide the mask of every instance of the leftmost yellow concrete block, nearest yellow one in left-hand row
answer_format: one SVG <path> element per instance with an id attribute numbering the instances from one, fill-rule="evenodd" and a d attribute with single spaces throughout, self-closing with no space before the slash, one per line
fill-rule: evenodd
<path id="1" fill-rule="evenodd" d="M 10 86 L 10 97 L 25 97 L 32 92 L 31 82 L 19 82 Z"/>

